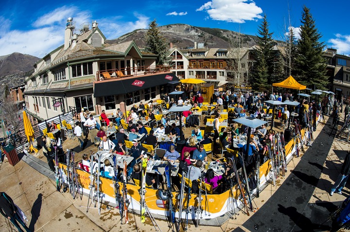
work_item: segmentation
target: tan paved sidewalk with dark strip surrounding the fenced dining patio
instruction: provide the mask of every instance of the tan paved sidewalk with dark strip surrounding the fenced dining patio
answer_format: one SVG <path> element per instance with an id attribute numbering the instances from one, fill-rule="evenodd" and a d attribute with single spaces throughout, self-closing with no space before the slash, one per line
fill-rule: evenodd
<path id="1" fill-rule="evenodd" d="M 256 213 L 247 217 L 239 212 L 237 219 L 229 219 L 221 227 L 200 225 L 195 228 L 189 224 L 188 231 L 314 231 L 329 212 L 350 194 L 347 186 L 343 189 L 343 195 L 330 197 L 328 194 L 349 149 L 349 143 L 338 139 L 333 141 L 333 137 L 329 137 L 332 129 L 330 122 L 327 125 L 319 124 L 314 132 L 314 137 L 316 134 L 318 136 L 313 146 L 303 156 L 293 158 L 286 176 L 279 178 L 276 186 L 267 185 L 260 198 L 254 200 L 259 208 Z M 88 198 L 83 196 L 82 200 L 73 200 L 69 193 L 57 192 L 46 158 L 38 156 L 41 160 L 24 156 L 15 167 L 10 166 L 7 159 L 0 165 L 0 191 L 11 196 L 25 212 L 32 231 L 155 231 L 148 217 L 142 224 L 140 216 L 131 213 L 129 224 L 121 224 L 118 209 L 105 209 L 103 206 L 101 215 L 98 215 L 97 209 L 91 205 L 86 213 Z M 169 231 L 166 221 L 157 220 L 157 223 L 163 232 Z M 0 231 L 16 231 L 14 228 L 8 219 L 0 217 Z M 327 230 L 326 227 L 323 229 Z"/>

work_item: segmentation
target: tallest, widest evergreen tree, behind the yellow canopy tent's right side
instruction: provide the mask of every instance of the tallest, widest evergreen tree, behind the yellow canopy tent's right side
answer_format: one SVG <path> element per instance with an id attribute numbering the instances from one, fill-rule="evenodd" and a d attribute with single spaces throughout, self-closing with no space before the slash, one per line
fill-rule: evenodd
<path id="1" fill-rule="evenodd" d="M 309 88 L 324 89 L 328 85 L 326 61 L 322 56 L 322 35 L 318 32 L 310 9 L 303 7 L 300 26 L 300 39 L 297 42 L 295 77 Z"/>

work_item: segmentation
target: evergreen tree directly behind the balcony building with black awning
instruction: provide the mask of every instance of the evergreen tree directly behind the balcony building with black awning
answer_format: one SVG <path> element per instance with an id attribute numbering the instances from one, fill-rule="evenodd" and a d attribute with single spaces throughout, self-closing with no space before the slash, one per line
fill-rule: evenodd
<path id="1" fill-rule="evenodd" d="M 160 34 L 159 29 L 157 28 L 158 24 L 156 19 L 153 20 L 148 25 L 148 30 L 146 33 L 146 52 L 152 52 L 157 54 L 157 65 L 167 64 L 171 61 L 171 58 L 168 56 L 168 47 L 165 38 Z"/>

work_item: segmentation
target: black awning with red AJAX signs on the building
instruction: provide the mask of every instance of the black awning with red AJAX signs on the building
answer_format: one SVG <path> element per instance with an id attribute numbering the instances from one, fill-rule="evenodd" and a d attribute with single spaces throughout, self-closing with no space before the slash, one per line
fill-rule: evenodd
<path id="1" fill-rule="evenodd" d="M 131 93 L 178 80 L 174 73 L 162 73 L 123 80 L 98 81 L 94 83 L 94 97 Z"/>

